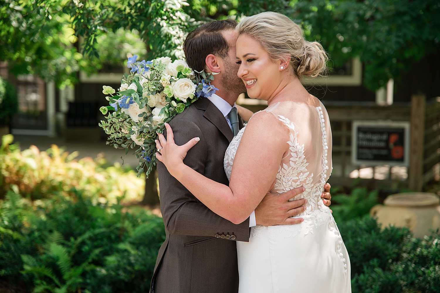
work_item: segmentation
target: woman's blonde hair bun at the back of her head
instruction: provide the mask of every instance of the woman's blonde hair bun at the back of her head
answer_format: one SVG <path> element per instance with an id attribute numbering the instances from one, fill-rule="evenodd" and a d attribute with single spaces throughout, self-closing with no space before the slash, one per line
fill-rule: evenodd
<path id="1" fill-rule="evenodd" d="M 323 46 L 318 42 L 304 41 L 303 56 L 297 67 L 297 75 L 317 77 L 326 70 L 328 56 Z"/>

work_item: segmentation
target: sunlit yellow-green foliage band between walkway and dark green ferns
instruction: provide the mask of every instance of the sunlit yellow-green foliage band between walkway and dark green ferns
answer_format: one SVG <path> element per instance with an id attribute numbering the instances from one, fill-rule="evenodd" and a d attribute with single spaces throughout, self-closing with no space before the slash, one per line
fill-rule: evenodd
<path id="1" fill-rule="evenodd" d="M 2 197 L 7 190 L 15 190 L 35 200 L 76 188 L 95 201 L 112 204 L 118 199 L 129 202 L 143 198 L 144 177 L 136 177 L 137 172 L 126 170 L 117 163 L 105 168 L 103 157 L 75 160 L 77 152 L 69 154 L 56 145 L 47 151 L 40 151 L 35 146 L 21 151 L 5 139 L 0 151 Z"/>

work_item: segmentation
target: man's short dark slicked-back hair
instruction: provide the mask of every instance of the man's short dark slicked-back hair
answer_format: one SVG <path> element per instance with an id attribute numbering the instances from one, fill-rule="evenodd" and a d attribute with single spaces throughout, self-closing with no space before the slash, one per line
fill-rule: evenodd
<path id="1" fill-rule="evenodd" d="M 235 29 L 238 22 L 233 19 L 215 20 L 205 23 L 194 29 L 183 43 L 183 51 L 188 66 L 197 71 L 205 69 L 205 59 L 209 54 L 225 58 L 229 45 L 222 35 L 222 31 Z"/>

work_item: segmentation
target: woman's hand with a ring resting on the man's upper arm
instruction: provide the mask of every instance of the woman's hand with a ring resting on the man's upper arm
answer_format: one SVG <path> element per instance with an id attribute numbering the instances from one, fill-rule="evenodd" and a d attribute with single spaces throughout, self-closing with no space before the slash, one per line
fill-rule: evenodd
<path id="1" fill-rule="evenodd" d="M 165 128 L 167 132 L 167 139 L 161 133 L 158 135 L 158 139 L 156 139 L 156 147 L 158 148 L 158 152 L 156 153 L 156 157 L 159 161 L 164 163 L 168 172 L 173 175 L 174 171 L 183 164 L 183 159 L 186 157 L 188 150 L 191 147 L 194 147 L 196 143 L 200 140 L 200 138 L 195 137 L 185 143 L 183 146 L 178 146 L 174 143 L 174 135 L 172 133 L 171 126 L 168 123 L 165 123 Z"/>

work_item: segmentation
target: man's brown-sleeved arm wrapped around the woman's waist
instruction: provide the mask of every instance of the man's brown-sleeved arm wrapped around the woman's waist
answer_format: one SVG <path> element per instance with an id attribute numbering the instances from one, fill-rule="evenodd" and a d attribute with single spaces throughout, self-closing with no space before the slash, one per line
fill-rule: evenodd
<path id="1" fill-rule="evenodd" d="M 186 165 L 205 175 L 209 158 L 207 140 L 201 129 L 191 120 L 173 119 L 170 126 L 177 145 L 183 145 L 194 137 L 200 137 L 184 159 Z M 166 137 L 166 134 L 165 134 Z M 222 157 L 224 154 L 221 154 Z M 220 172 L 224 172 L 223 168 Z M 165 227 L 171 234 L 214 236 L 234 234 L 237 241 L 249 241 L 249 219 L 234 224 L 212 212 L 194 197 L 176 178 L 171 176 L 165 165 L 158 161 L 161 212 Z"/>

